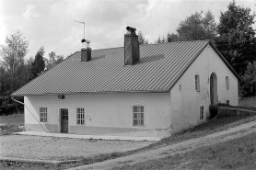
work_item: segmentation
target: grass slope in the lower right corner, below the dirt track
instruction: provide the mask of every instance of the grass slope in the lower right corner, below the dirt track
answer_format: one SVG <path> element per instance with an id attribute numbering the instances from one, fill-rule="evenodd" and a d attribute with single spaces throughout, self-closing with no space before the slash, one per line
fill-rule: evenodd
<path id="1" fill-rule="evenodd" d="M 204 146 L 192 152 L 113 169 L 255 169 L 255 141 L 256 133 L 253 132 L 235 140 Z"/>

